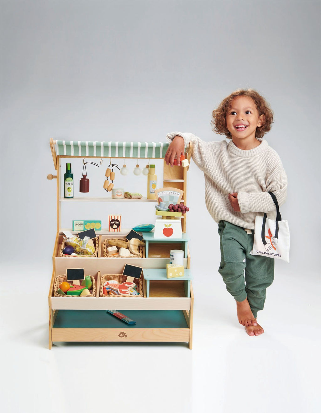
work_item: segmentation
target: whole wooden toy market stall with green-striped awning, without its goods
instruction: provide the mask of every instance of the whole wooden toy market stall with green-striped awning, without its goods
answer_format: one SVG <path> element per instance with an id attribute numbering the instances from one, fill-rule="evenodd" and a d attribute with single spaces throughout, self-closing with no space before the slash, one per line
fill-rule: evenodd
<path id="1" fill-rule="evenodd" d="M 162 142 L 85 142 L 54 141 L 50 139 L 55 174 L 48 179 L 57 180 L 57 235 L 52 257 L 53 271 L 49 290 L 49 348 L 53 342 L 188 342 L 192 348 L 194 294 L 191 275 L 184 279 L 163 279 L 164 268 L 169 263 L 170 250 L 184 249 L 184 268 L 190 267 L 190 255 L 186 238 L 186 214 L 182 217 L 182 240 L 153 242 L 148 256 L 143 249 L 139 258 L 106 257 L 104 241 L 115 238 L 115 233 L 97 231 L 97 256 L 67 257 L 61 254 L 64 233 L 61 229 L 61 204 L 65 202 L 61 192 L 61 159 L 63 158 L 138 158 L 164 159 L 168 144 Z M 190 160 L 191 147 L 186 149 Z M 170 167 L 163 161 L 163 187 L 177 188 L 187 195 L 188 167 Z M 147 199 L 73 198 L 67 202 L 156 202 Z M 77 205 L 77 204 L 76 204 Z M 69 229 L 71 232 L 71 228 Z M 73 232 L 76 233 L 76 232 Z M 99 235 L 98 235 L 99 233 Z M 117 237 L 125 237 L 119 232 Z M 122 274 L 125 263 L 143 267 L 149 279 L 142 275 L 142 295 L 137 297 L 104 297 L 101 280 L 104 275 Z M 57 294 L 57 280 L 66 274 L 66 268 L 84 268 L 85 274 L 94 280 L 95 290 L 90 297 L 61 297 Z M 148 297 L 146 292 L 148 286 Z M 127 325 L 106 310 L 117 309 L 137 321 Z"/>

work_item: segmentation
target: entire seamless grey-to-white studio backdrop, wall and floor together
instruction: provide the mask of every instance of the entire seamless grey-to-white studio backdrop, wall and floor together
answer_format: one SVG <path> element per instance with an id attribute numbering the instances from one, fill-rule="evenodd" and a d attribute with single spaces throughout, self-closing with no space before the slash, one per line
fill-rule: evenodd
<path id="1" fill-rule="evenodd" d="M 319 413 L 320 1 L 2 0 L 0 7 L 4 411 L 103 406 L 123 413 L 128 401 L 115 383 L 125 392 L 139 383 L 133 413 Z M 238 324 L 217 272 L 219 237 L 203 175 L 191 163 L 193 350 L 185 343 L 55 343 L 49 351 L 56 235 L 49 139 L 165 141 L 178 130 L 220 140 L 212 109 L 249 87 L 274 110 L 265 138 L 289 182 L 281 214 L 290 225 L 290 264 L 276 262 L 259 313 L 264 334 L 249 337 Z M 72 162 L 76 188 L 81 162 Z M 106 161 L 88 166 L 90 195 L 103 196 L 105 168 Z M 130 178 L 116 174 L 115 183 L 146 191 L 146 178 Z M 64 202 L 63 225 L 106 222 L 111 203 L 100 204 Z M 125 226 L 153 219 L 153 204 L 130 205 L 117 210 Z M 71 352 L 84 362 L 68 363 Z"/>

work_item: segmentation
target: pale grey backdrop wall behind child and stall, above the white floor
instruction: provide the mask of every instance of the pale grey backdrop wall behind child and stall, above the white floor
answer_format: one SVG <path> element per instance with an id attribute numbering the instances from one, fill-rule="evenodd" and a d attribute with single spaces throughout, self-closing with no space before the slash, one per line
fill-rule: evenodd
<path id="1" fill-rule="evenodd" d="M 266 139 L 289 181 L 281 213 L 290 224 L 290 264 L 276 267 L 304 277 L 317 271 L 319 10 L 314 1 L 2 1 L 2 262 L 50 269 L 56 193 L 46 179 L 54 173 L 49 138 L 165 141 L 178 130 L 220 140 L 212 109 L 251 87 L 275 112 Z M 104 173 L 89 166 L 88 176 L 99 187 Z M 216 274 L 217 224 L 194 164 L 188 199 L 193 265 Z M 144 215 L 136 219 L 141 211 L 131 212 L 133 225 L 144 222 Z M 97 214 L 74 211 L 76 218 Z M 17 232 L 33 242 L 21 248 Z"/>

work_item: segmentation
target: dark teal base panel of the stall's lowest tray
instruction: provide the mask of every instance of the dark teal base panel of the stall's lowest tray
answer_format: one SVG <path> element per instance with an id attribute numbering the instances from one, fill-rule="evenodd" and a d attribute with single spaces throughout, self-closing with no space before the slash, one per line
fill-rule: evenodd
<path id="1" fill-rule="evenodd" d="M 105 310 L 59 310 L 53 328 L 189 328 L 181 310 L 118 311 L 136 324 L 127 324 Z"/>

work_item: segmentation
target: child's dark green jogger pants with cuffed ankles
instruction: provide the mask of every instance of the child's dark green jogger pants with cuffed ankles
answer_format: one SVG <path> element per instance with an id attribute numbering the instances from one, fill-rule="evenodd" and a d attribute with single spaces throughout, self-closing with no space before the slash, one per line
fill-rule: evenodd
<path id="1" fill-rule="evenodd" d="M 257 311 L 263 310 L 266 289 L 274 280 L 274 259 L 250 254 L 254 230 L 251 232 L 248 234 L 244 228 L 227 221 L 219 222 L 221 263 L 218 271 L 223 277 L 227 291 L 236 301 L 248 298 L 256 318 Z"/>

